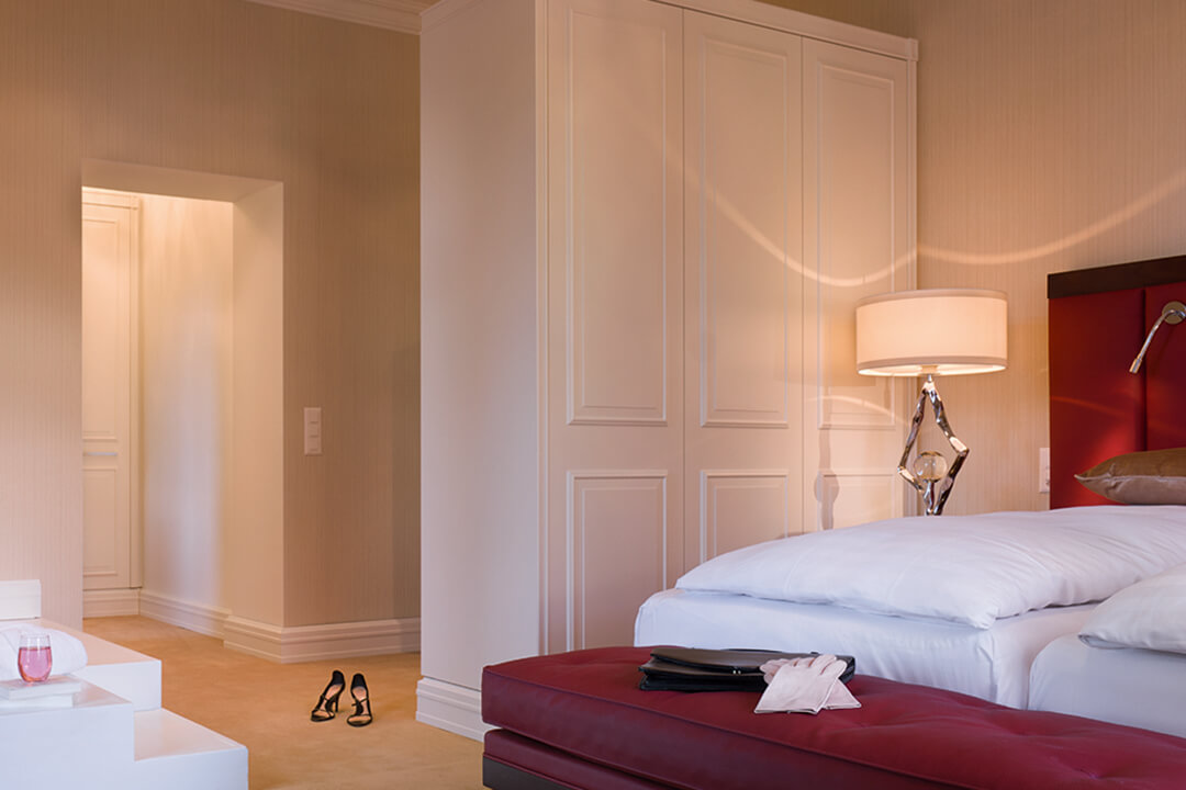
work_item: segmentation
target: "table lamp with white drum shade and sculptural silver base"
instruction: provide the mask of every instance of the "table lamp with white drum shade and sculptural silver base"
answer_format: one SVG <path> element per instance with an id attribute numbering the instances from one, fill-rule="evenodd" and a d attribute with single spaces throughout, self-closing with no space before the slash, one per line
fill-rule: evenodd
<path id="1" fill-rule="evenodd" d="M 950 288 L 897 291 L 856 306 L 856 371 L 863 375 L 925 375 L 898 474 L 923 497 L 926 515 L 940 515 L 968 445 L 951 430 L 937 375 L 968 375 L 1005 370 L 1008 303 L 995 290 Z M 911 451 L 930 402 L 935 422 L 956 451 L 950 464 L 933 450 Z"/>

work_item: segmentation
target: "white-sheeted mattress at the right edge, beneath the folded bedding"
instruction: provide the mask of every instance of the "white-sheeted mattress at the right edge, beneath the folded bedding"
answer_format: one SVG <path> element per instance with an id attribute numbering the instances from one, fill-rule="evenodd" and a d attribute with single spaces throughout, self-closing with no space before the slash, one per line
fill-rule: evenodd
<path id="1" fill-rule="evenodd" d="M 857 664 L 860 668 L 860 664 Z M 1075 634 L 1034 660 L 1029 708 L 1102 719 L 1186 738 L 1186 656 L 1092 648 Z"/>

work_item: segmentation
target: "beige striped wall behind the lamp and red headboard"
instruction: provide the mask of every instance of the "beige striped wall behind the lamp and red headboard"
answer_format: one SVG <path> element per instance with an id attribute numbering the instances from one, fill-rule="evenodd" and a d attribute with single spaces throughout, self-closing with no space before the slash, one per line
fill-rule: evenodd
<path id="1" fill-rule="evenodd" d="M 948 512 L 1047 507 L 1046 274 L 1186 251 L 1186 4 L 777 5 L 919 39 L 918 284 L 1010 310 L 1009 370 L 939 381 L 971 447 Z"/>

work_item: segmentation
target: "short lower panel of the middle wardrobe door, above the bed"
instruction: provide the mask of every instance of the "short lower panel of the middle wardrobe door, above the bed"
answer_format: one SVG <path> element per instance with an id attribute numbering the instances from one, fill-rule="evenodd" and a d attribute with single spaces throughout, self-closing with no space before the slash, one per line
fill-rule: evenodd
<path id="1" fill-rule="evenodd" d="M 700 561 L 798 533 L 791 524 L 790 482 L 785 469 L 701 471 Z"/>

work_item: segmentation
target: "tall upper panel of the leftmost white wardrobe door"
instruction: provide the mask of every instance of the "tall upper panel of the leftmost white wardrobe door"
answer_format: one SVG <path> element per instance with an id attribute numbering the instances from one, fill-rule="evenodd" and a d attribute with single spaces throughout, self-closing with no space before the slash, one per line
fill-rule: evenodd
<path id="1" fill-rule="evenodd" d="M 550 270 L 563 284 L 567 418 L 663 424 L 678 397 L 678 11 L 566 0 L 549 14 Z"/>

